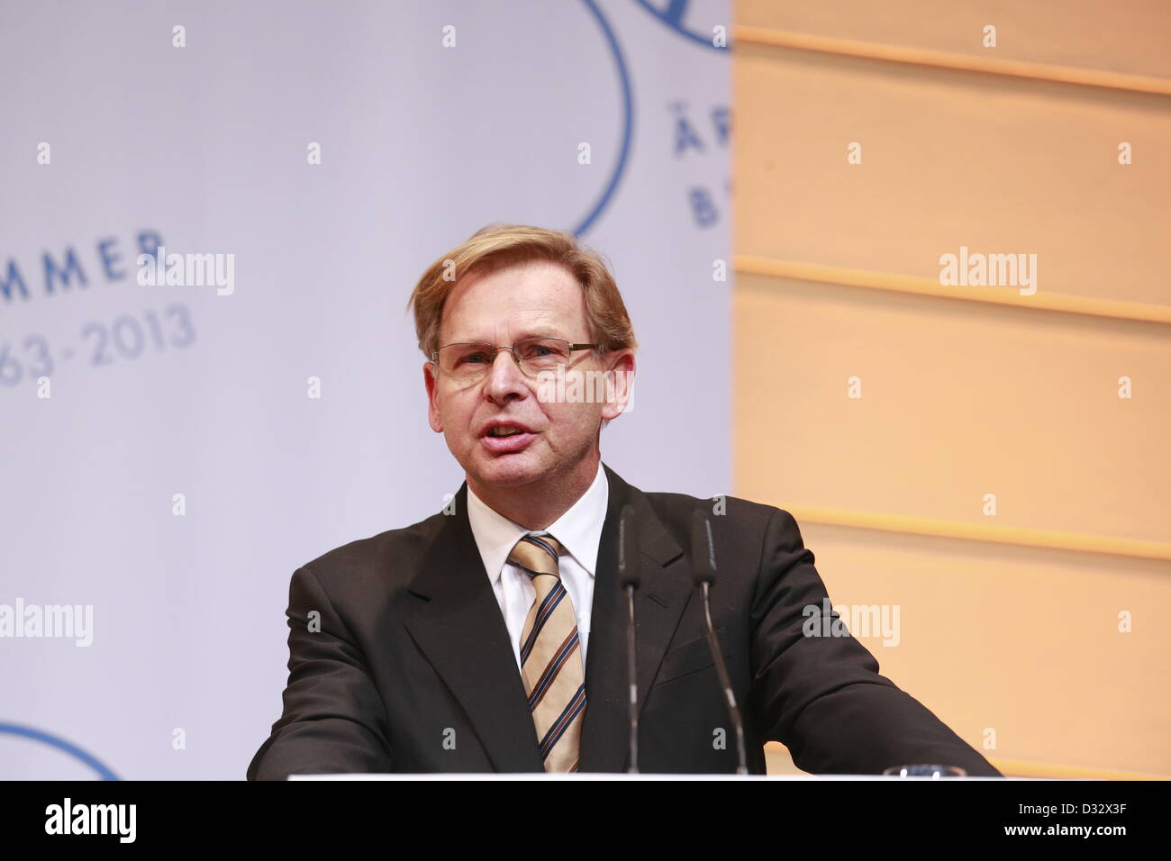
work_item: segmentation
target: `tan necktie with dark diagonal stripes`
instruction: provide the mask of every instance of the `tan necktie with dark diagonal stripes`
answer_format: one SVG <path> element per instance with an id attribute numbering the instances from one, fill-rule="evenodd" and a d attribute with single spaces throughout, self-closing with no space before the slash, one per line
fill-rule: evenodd
<path id="1" fill-rule="evenodd" d="M 508 554 L 536 589 L 520 637 L 520 663 L 547 772 L 577 771 L 586 719 L 577 616 L 557 567 L 562 552 L 553 535 L 525 535 Z"/>

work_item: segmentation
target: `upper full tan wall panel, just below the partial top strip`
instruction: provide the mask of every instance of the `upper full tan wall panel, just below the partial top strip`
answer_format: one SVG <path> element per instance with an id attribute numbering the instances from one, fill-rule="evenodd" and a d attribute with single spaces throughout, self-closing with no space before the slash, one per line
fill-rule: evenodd
<path id="1" fill-rule="evenodd" d="M 1171 305 L 1171 97 L 754 47 L 733 81 L 738 253 L 932 278 L 960 246 L 1036 254 L 1039 291 Z"/>

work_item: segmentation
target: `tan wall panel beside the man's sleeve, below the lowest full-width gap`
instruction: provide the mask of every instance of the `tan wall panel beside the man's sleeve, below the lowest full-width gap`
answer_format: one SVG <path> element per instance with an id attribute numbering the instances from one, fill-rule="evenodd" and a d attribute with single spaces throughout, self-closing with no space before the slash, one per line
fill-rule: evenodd
<path id="1" fill-rule="evenodd" d="M 835 606 L 898 604 L 897 645 L 860 641 L 989 759 L 1171 774 L 1171 565 L 816 525 L 802 535 Z M 1132 633 L 1118 631 L 1122 610 Z"/>

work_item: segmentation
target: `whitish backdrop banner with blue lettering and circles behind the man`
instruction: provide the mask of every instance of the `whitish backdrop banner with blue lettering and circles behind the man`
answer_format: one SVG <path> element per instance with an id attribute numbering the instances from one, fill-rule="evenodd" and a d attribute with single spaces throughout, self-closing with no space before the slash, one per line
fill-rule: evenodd
<path id="1" fill-rule="evenodd" d="M 728 491 L 728 16 L 0 2 L 0 778 L 244 777 L 293 570 L 463 480 L 405 302 L 485 224 L 610 260 L 603 459 Z"/>

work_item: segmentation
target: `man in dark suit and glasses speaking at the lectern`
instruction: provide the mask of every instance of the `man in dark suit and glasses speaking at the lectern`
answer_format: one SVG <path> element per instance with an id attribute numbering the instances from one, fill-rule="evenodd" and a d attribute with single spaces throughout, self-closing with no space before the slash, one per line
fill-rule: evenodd
<path id="1" fill-rule="evenodd" d="M 932 763 L 999 774 L 856 640 L 808 624 L 827 593 L 787 512 L 643 493 L 602 464 L 601 428 L 629 404 L 635 341 L 596 255 L 563 233 L 485 228 L 424 273 L 411 305 L 431 426 L 467 480 L 443 512 L 294 573 L 285 711 L 249 779 L 625 771 L 628 505 L 641 771 L 737 770 L 692 581 L 701 510 L 749 771 L 765 772 L 773 739 L 814 773 Z M 553 369 L 605 375 L 607 396 L 567 396 Z"/>

